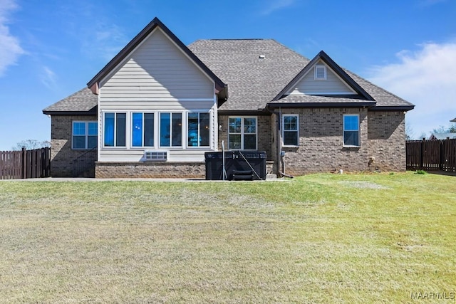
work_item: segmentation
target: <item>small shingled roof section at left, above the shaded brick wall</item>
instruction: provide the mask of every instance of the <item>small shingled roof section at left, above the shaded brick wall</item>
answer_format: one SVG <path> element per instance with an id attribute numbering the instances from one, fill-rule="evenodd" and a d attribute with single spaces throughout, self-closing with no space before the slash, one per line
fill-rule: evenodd
<path id="1" fill-rule="evenodd" d="M 88 88 L 78 90 L 43 110 L 46 115 L 96 115 L 98 95 Z"/>

